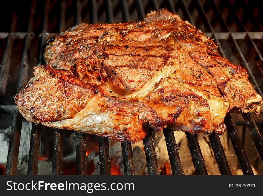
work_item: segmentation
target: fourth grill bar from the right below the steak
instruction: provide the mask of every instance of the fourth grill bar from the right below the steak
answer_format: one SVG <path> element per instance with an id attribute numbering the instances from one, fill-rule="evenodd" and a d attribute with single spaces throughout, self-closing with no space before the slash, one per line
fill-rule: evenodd
<path id="1" fill-rule="evenodd" d="M 201 148 L 198 143 L 197 135 L 193 135 L 189 132 L 185 132 L 185 135 L 188 142 L 196 175 L 207 175 L 207 168 L 205 166 Z"/>

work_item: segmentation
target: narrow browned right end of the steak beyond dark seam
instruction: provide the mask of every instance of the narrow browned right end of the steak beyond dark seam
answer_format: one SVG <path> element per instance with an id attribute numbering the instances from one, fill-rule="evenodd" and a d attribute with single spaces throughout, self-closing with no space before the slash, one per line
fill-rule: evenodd
<path id="1" fill-rule="evenodd" d="M 245 112 L 247 108 L 251 108 L 255 111 L 255 101 L 250 102 L 250 100 L 257 100 L 257 104 L 262 104 L 262 99 L 258 98 L 243 67 L 235 66 L 220 56 L 207 55 L 198 51 L 191 51 L 189 54 L 215 78 L 221 93 L 229 101 L 229 110 Z"/>

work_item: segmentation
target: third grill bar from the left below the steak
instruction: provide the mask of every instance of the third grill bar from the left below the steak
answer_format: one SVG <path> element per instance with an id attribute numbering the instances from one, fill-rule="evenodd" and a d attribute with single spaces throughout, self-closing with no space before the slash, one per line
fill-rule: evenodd
<path id="1" fill-rule="evenodd" d="M 53 129 L 52 175 L 62 175 L 63 130 Z"/>

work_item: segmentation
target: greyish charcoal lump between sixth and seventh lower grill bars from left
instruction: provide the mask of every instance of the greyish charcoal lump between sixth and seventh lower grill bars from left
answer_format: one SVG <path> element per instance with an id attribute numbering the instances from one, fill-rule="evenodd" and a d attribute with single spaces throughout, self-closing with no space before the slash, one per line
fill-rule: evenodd
<path id="1" fill-rule="evenodd" d="M 139 146 L 135 146 L 132 155 L 135 166 L 135 175 L 143 175 L 147 166 L 145 153 Z"/>

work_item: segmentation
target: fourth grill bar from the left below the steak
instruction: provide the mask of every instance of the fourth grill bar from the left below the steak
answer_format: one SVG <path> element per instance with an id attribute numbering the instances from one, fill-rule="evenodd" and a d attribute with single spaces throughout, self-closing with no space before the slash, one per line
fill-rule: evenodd
<path id="1" fill-rule="evenodd" d="M 86 134 L 75 132 L 76 139 L 76 174 L 87 175 Z"/>

